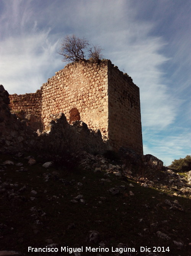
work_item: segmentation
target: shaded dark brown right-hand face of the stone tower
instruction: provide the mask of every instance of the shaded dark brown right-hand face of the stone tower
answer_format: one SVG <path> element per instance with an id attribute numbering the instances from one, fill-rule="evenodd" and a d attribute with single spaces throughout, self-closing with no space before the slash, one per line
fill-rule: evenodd
<path id="1" fill-rule="evenodd" d="M 108 139 L 115 149 L 128 147 L 143 154 L 139 88 L 108 62 Z"/>

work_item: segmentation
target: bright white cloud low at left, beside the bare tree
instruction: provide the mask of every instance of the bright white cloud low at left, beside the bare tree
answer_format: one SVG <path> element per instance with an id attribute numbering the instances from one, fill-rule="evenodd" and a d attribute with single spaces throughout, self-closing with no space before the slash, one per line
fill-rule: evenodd
<path id="1" fill-rule="evenodd" d="M 0 42 L 1 83 L 9 93 L 34 92 L 54 74 L 50 65 L 55 70 L 60 64 L 55 58 L 58 42 L 48 35 L 49 31 L 36 32 Z"/>

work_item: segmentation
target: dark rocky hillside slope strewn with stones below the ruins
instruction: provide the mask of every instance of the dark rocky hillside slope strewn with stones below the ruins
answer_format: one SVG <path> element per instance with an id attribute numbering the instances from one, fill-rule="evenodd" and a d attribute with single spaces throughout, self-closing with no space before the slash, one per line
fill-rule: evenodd
<path id="1" fill-rule="evenodd" d="M 31 154 L 0 155 L 1 256 L 191 255 L 191 172 Z"/>

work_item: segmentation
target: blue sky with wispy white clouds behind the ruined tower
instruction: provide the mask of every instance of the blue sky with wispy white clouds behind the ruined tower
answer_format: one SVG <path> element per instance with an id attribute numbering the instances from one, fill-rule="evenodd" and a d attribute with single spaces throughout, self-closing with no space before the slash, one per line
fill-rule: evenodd
<path id="1" fill-rule="evenodd" d="M 191 155 L 190 0 L 0 0 L 0 83 L 40 89 L 64 68 L 65 35 L 85 37 L 140 88 L 144 154 Z"/>

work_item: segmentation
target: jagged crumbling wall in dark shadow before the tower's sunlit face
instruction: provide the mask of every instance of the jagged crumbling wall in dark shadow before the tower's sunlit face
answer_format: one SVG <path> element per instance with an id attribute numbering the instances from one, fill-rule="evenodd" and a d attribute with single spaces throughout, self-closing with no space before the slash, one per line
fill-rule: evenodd
<path id="1" fill-rule="evenodd" d="M 82 121 L 70 125 L 64 114 L 47 126 L 47 132 L 34 132 L 26 121 L 20 121 L 10 112 L 9 94 L 0 85 L 0 152 L 16 153 L 37 151 L 46 154 L 62 154 L 85 150 L 91 154 L 103 154 L 108 144 L 102 140 L 100 131 L 92 131 Z"/>

